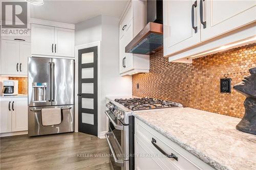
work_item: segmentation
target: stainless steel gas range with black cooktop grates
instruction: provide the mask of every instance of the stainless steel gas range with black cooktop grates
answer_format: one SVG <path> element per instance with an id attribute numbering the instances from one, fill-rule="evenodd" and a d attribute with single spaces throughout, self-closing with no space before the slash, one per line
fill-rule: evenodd
<path id="1" fill-rule="evenodd" d="M 115 99 L 106 104 L 109 132 L 105 134 L 110 147 L 113 169 L 134 169 L 133 112 L 146 109 L 179 108 L 180 103 L 153 98 Z"/>

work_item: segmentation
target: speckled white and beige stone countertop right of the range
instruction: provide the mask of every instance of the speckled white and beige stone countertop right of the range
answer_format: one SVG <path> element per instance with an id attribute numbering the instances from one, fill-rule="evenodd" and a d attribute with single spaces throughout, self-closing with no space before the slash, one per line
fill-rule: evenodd
<path id="1" fill-rule="evenodd" d="M 192 108 L 133 114 L 216 169 L 256 169 L 256 135 L 236 130 L 240 118 Z"/>

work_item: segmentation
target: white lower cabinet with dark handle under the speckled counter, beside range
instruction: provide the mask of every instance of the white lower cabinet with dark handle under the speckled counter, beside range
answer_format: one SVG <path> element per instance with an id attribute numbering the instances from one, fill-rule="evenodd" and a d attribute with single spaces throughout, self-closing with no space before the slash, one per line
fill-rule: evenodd
<path id="1" fill-rule="evenodd" d="M 175 158 L 168 158 L 162 152 Z M 135 169 L 214 168 L 135 118 Z"/>

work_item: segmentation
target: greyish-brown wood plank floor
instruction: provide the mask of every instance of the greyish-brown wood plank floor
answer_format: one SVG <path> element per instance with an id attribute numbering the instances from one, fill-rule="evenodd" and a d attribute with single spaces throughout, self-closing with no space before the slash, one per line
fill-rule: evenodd
<path id="1" fill-rule="evenodd" d="M 0 169 L 111 169 L 105 139 L 83 133 L 2 137 Z"/>

